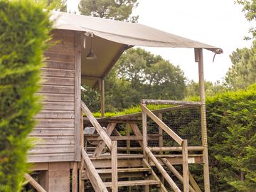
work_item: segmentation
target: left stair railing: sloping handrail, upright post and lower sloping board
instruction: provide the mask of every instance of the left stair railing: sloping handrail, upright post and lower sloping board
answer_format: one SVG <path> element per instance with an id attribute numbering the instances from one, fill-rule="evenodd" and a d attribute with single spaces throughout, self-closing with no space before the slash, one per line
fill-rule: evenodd
<path id="1" fill-rule="evenodd" d="M 84 102 L 81 102 L 81 107 L 82 107 L 82 112 L 85 113 L 86 117 L 90 120 L 91 124 L 95 129 L 97 130 L 98 134 L 100 134 L 100 137 L 102 138 L 103 142 L 107 145 L 107 148 L 111 152 L 112 156 L 112 192 L 117 192 L 118 191 L 118 186 L 117 186 L 117 141 L 112 141 L 110 137 L 107 135 L 105 130 L 101 127 L 99 122 L 97 122 L 97 119 L 92 115 L 92 112 L 88 109 L 88 107 L 85 105 Z M 85 159 L 85 163 L 88 164 L 88 169 L 87 171 L 90 171 L 91 174 L 91 179 L 90 181 L 92 182 L 92 185 L 95 188 L 98 188 L 99 191 L 105 191 L 105 185 L 100 178 L 100 176 L 97 174 L 97 171 L 95 167 L 92 165 L 90 158 L 87 156 L 86 151 L 84 147 L 82 146 L 82 157 Z M 90 176 L 88 176 L 90 178 Z M 96 181 L 95 185 L 93 181 Z M 99 183 L 101 185 L 99 186 Z M 98 186 L 97 186 L 98 185 Z M 100 188 L 99 188 L 100 187 Z"/>

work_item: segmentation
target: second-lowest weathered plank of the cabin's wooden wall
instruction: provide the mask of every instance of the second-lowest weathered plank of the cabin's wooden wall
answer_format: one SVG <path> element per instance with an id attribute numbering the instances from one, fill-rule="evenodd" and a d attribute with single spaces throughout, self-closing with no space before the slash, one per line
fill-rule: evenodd
<path id="1" fill-rule="evenodd" d="M 75 146 L 73 144 L 61 145 L 36 145 L 33 149 L 29 150 L 29 154 L 58 154 L 58 153 L 74 153 Z"/>

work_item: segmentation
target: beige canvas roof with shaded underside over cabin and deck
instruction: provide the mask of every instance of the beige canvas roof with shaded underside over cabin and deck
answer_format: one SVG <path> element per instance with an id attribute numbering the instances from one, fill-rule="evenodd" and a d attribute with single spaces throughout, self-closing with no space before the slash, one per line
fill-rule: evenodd
<path id="1" fill-rule="evenodd" d="M 68 14 L 52 11 L 54 28 L 81 32 L 92 32 L 92 49 L 95 60 L 87 60 L 88 46 L 82 48 L 82 83 L 94 87 L 97 79 L 105 78 L 124 50 L 132 46 L 169 48 L 206 48 L 222 53 L 215 46 L 166 33 L 139 23 L 127 23 L 105 18 Z M 86 42 L 87 45 L 87 42 Z"/>

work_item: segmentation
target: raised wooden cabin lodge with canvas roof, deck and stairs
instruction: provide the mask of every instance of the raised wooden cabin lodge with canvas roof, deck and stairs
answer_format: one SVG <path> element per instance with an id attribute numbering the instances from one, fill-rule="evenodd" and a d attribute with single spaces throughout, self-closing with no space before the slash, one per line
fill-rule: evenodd
<path id="1" fill-rule="evenodd" d="M 26 174 L 29 183 L 37 191 L 54 192 L 134 188 L 198 192 L 203 189 L 188 165 L 201 164 L 204 191 L 210 191 L 203 48 L 217 54 L 222 50 L 138 23 L 58 11 L 52 12 L 51 19 L 55 23 L 53 45 L 45 53 L 47 65 L 38 92 L 43 95 L 43 110 L 36 115 L 38 124 L 31 133 L 39 140 L 28 154 L 31 171 L 38 171 L 38 178 Z M 201 101 L 142 100 L 141 113 L 104 117 L 104 78 L 124 50 L 133 46 L 193 48 Z M 81 84 L 100 86 L 102 118 L 93 117 L 81 101 Z M 148 104 L 171 107 L 149 110 Z M 198 109 L 196 146 L 190 146 L 189 138 L 182 138 L 169 125 L 172 112 L 192 108 Z M 126 135 L 120 134 L 120 127 Z"/>

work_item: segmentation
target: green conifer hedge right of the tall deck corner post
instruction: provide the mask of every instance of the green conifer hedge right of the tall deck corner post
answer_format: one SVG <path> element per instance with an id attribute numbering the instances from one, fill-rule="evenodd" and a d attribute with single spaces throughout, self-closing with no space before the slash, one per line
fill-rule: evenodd
<path id="1" fill-rule="evenodd" d="M 256 191 L 256 84 L 206 107 L 212 191 Z"/>

